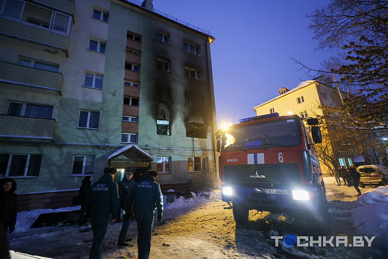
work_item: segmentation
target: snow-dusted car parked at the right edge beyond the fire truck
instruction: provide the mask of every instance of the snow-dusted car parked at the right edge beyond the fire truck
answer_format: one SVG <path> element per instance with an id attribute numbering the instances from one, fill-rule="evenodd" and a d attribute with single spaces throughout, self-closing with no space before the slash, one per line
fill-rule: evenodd
<path id="1" fill-rule="evenodd" d="M 357 167 L 357 171 L 361 174 L 360 186 L 365 188 L 365 185 L 387 185 L 388 184 L 388 167 L 379 164 L 361 165 Z"/>

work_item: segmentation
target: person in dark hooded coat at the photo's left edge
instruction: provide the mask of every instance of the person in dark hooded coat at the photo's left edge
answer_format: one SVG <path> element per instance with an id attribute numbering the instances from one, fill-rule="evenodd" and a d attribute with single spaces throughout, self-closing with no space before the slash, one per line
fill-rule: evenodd
<path id="1" fill-rule="evenodd" d="M 18 214 L 18 195 L 15 192 L 17 184 L 12 178 L 0 179 L 0 223 L 6 233 L 15 230 Z"/>

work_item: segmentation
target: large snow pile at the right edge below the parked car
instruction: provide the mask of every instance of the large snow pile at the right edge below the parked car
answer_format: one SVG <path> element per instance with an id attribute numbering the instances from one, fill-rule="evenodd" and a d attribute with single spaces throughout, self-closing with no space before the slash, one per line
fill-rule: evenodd
<path id="1" fill-rule="evenodd" d="M 377 187 L 361 195 L 352 220 L 362 235 L 388 238 L 388 187 Z"/>

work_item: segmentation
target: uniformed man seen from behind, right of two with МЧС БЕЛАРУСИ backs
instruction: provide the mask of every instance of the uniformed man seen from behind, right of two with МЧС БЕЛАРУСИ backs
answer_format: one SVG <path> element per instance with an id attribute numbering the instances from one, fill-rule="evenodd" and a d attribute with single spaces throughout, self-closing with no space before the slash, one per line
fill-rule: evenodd
<path id="1" fill-rule="evenodd" d="M 158 212 L 158 222 L 162 220 L 163 195 L 160 185 L 155 182 L 157 176 L 157 171 L 148 170 L 144 180 L 134 185 L 129 197 L 129 204 L 133 202 L 133 212 L 137 223 L 138 259 L 148 259 L 150 257 L 155 209 Z"/>

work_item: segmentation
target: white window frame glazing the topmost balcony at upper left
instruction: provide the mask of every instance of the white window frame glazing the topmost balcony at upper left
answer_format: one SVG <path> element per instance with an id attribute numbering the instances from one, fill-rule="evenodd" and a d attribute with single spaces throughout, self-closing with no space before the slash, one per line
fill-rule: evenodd
<path id="1" fill-rule="evenodd" d="M 40 29 L 43 29 L 43 30 L 49 30 L 49 31 L 52 31 L 52 32 L 55 32 L 55 33 L 66 35 L 66 36 L 70 35 L 70 26 L 71 26 L 71 22 L 72 22 L 72 17 L 71 16 L 66 15 L 64 13 L 61 13 L 61 12 L 54 11 L 54 10 L 49 9 L 49 8 L 44 8 L 42 6 L 35 5 L 35 4 L 31 3 L 31 2 L 28 2 L 28 5 L 32 5 L 32 6 L 40 8 L 40 9 L 44 9 L 44 10 L 48 10 L 48 11 L 52 12 L 51 13 L 51 20 L 50 20 L 49 28 L 45 28 L 43 26 L 39 26 L 39 25 L 36 25 L 36 24 L 33 24 L 33 23 L 29 23 L 28 21 L 22 21 L 21 20 L 22 17 L 23 17 L 25 6 L 26 6 L 26 1 L 23 1 L 23 0 L 18 0 L 19 2 L 23 2 L 22 11 L 20 12 L 19 18 L 14 18 L 14 17 L 3 15 L 3 13 L 5 11 L 5 7 L 6 7 L 7 1 L 8 0 L 4 0 L 3 6 L 0 7 L 0 9 L 1 9 L 0 10 L 1 11 L 0 15 L 2 17 L 6 18 L 6 19 L 9 19 L 9 20 L 14 20 L 14 21 L 17 21 L 17 22 L 20 22 L 20 23 L 27 24 L 29 26 L 37 27 L 37 28 L 40 28 Z M 57 15 L 57 13 L 60 14 L 60 15 L 66 16 L 68 18 L 67 25 L 66 25 L 66 32 L 53 29 L 54 21 L 55 21 L 55 17 Z"/>

